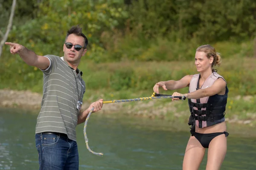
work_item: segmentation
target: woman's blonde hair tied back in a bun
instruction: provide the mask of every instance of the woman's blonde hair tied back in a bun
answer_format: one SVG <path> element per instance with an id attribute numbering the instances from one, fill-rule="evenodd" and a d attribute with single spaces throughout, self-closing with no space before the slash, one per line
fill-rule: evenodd
<path id="1" fill-rule="evenodd" d="M 212 67 L 215 65 L 221 65 L 221 54 L 217 53 L 215 48 L 213 48 L 211 45 L 201 45 L 196 49 L 196 51 L 203 51 L 208 59 L 213 57 Z"/>

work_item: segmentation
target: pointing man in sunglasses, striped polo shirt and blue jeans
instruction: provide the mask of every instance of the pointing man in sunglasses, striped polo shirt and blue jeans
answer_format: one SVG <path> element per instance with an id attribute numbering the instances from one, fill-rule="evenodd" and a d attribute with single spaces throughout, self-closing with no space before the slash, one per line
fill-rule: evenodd
<path id="1" fill-rule="evenodd" d="M 85 83 L 78 69 L 87 51 L 88 40 L 79 26 L 67 31 L 63 45 L 64 57 L 39 56 L 26 47 L 12 42 L 12 54 L 19 54 L 28 65 L 44 73 L 43 99 L 35 128 L 40 170 L 78 170 L 76 125 L 83 123 L 94 107 L 101 110 L 103 99 L 81 112 Z"/>

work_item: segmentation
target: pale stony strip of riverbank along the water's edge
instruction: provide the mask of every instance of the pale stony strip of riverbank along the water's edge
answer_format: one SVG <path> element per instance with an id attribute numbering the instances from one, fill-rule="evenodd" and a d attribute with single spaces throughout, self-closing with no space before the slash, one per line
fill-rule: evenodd
<path id="1" fill-rule="evenodd" d="M 100 92 L 98 92 L 100 93 Z M 19 108 L 24 110 L 37 111 L 38 113 L 41 106 L 42 95 L 31 91 L 15 91 L 9 89 L 0 89 L 0 107 L 4 108 Z M 85 100 L 82 109 L 86 109 L 91 102 L 94 101 L 93 95 Z M 96 96 L 100 96 L 96 94 Z M 104 95 L 101 96 L 103 99 Z M 243 101 L 244 103 L 250 103 L 255 97 L 253 96 L 236 96 L 229 99 L 226 111 L 226 122 L 228 129 L 233 133 L 245 135 L 245 136 L 256 136 L 254 128 L 256 127 L 256 113 L 245 111 L 239 115 L 230 111 L 233 105 L 236 105 L 237 101 Z M 240 102 L 241 108 L 246 108 L 248 105 Z M 126 116 L 125 119 L 131 119 L 131 124 L 139 125 L 143 123 L 143 119 L 154 119 L 152 128 L 160 128 L 161 130 L 169 130 L 170 126 L 175 127 L 177 131 L 188 130 L 187 119 L 188 119 L 188 108 L 187 102 L 175 101 L 170 102 L 169 99 L 155 99 L 150 101 L 139 102 L 122 102 L 122 103 L 110 103 L 105 104 L 102 111 L 98 112 L 97 115 L 105 114 L 105 116 L 111 116 L 113 119 L 122 119 L 122 116 Z M 139 119 L 137 119 L 137 118 Z M 139 123 L 139 122 L 140 123 Z M 158 125 L 161 125 L 160 127 Z M 141 125 L 140 125 L 141 126 Z M 173 128 L 172 128 L 173 129 Z M 229 131 L 230 131 L 229 130 Z"/>

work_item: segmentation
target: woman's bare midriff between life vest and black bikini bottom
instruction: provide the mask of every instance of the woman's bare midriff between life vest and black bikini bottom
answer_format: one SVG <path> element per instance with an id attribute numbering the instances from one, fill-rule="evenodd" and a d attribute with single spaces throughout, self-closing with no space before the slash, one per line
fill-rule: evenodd
<path id="1" fill-rule="evenodd" d="M 216 125 L 212 125 L 204 128 L 199 128 L 195 126 L 195 132 L 197 133 L 216 133 L 216 132 L 224 132 L 224 131 L 227 131 L 226 122 L 221 122 Z"/>

